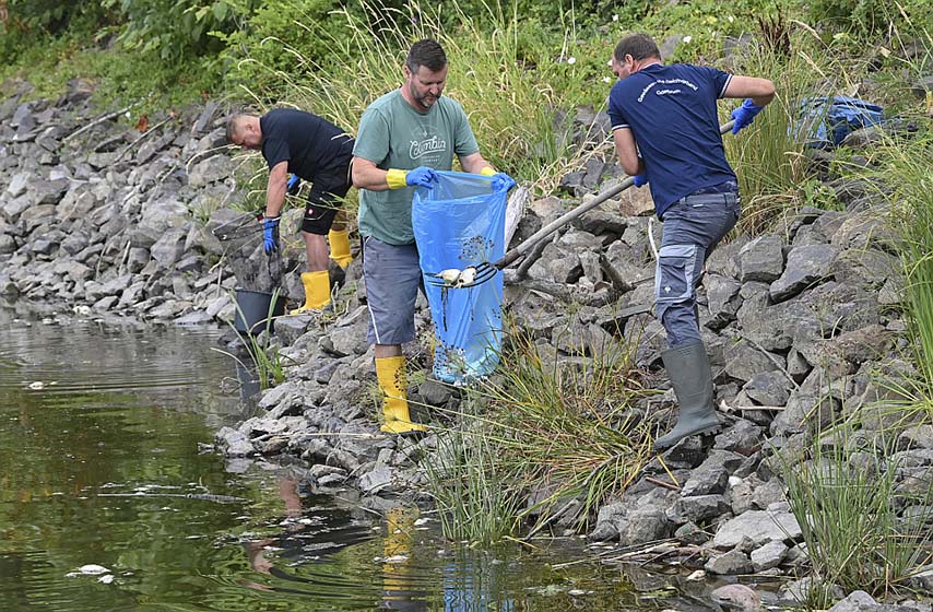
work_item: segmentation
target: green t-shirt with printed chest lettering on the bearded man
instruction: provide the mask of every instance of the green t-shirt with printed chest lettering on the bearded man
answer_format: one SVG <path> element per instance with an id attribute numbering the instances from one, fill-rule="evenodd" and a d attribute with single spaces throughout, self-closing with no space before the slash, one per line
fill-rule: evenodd
<path id="1" fill-rule="evenodd" d="M 470 121 L 459 103 L 441 96 L 418 113 L 402 97 L 390 92 L 363 113 L 353 154 L 382 169 L 410 170 L 428 166 L 449 170 L 453 155 L 480 151 Z M 359 190 L 359 233 L 390 245 L 415 242 L 412 232 L 414 187 L 388 191 Z"/>

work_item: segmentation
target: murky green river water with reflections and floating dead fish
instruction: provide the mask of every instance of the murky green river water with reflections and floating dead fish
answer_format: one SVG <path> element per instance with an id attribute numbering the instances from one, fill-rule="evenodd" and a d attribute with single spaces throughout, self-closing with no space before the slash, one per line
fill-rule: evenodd
<path id="1" fill-rule="evenodd" d="M 575 540 L 477 551 L 429 517 L 378 516 L 350 493 L 306 495 L 280 466 L 225 460 L 213 433 L 256 409 L 217 336 L 0 308 L 0 610 L 672 604 L 665 577 L 642 576 L 638 593 Z"/>

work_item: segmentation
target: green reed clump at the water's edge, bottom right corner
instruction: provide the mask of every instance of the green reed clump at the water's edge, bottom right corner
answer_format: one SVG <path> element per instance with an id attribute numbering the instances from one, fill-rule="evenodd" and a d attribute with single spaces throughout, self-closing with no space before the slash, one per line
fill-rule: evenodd
<path id="1" fill-rule="evenodd" d="M 929 486 L 911 493 L 898 478 L 896 448 L 864 448 L 842 432 L 829 442 L 816 436 L 807 457 L 781 459 L 788 502 L 819 580 L 801 602 L 811 609 L 832 603 L 834 585 L 875 596 L 907 590 L 933 557 Z"/>

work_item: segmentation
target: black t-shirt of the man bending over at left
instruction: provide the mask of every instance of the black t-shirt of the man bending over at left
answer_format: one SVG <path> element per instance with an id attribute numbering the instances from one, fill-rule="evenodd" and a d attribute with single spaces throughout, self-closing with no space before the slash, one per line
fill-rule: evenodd
<path id="1" fill-rule="evenodd" d="M 324 170 L 346 167 L 353 157 L 353 138 L 317 115 L 276 108 L 259 118 L 262 156 L 272 169 L 287 161 L 288 172 L 305 180 Z"/>

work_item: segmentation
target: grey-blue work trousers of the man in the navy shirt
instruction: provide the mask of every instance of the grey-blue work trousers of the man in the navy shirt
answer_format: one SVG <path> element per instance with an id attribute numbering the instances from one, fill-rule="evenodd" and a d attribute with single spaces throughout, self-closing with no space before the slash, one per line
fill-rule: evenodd
<path id="1" fill-rule="evenodd" d="M 696 193 L 664 211 L 664 233 L 654 272 L 654 311 L 668 345 L 701 342 L 696 287 L 712 249 L 739 221 L 737 191 Z"/>

